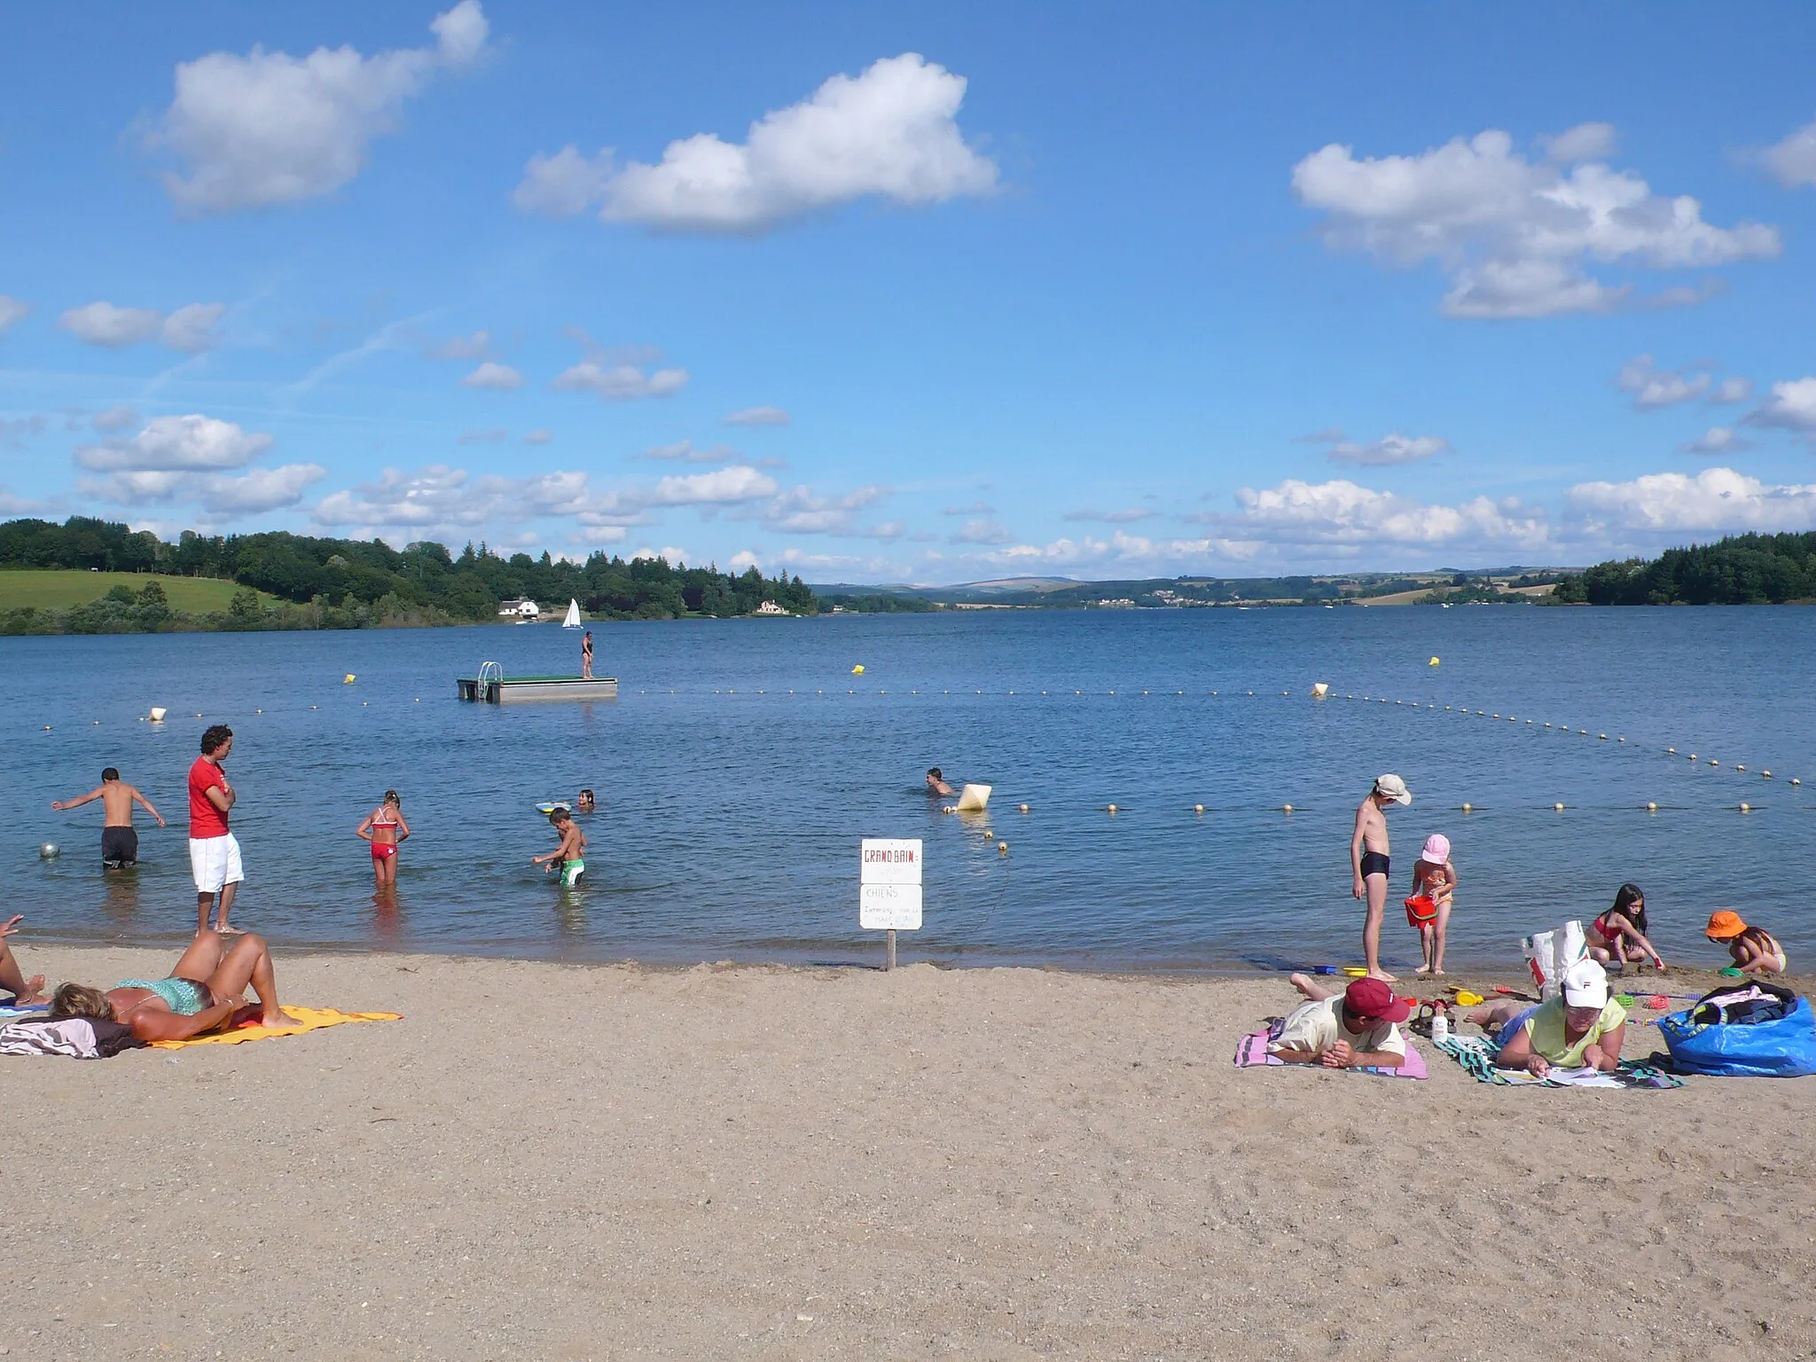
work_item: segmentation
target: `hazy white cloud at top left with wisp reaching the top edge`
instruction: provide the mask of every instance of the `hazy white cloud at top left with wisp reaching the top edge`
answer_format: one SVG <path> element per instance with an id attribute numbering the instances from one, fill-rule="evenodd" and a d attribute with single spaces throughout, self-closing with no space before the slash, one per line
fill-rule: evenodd
<path id="1" fill-rule="evenodd" d="M 479 0 L 430 22 L 434 47 L 361 56 L 318 47 L 309 56 L 209 53 L 176 67 L 176 96 L 151 142 L 189 163 L 163 187 L 189 212 L 232 212 L 329 194 L 365 167 L 372 138 L 396 127 L 403 102 L 438 71 L 485 51 Z"/>

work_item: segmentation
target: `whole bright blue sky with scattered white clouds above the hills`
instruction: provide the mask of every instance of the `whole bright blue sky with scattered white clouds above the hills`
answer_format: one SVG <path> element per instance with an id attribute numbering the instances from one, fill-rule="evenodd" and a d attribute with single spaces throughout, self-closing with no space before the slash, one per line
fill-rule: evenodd
<path id="1" fill-rule="evenodd" d="M 1807 5 L 4 35 L 0 516 L 854 583 L 1816 527 Z"/>

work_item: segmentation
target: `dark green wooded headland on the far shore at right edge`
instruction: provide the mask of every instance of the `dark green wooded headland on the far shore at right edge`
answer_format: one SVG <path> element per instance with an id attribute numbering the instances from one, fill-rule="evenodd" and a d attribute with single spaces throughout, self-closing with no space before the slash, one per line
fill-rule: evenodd
<path id="1" fill-rule="evenodd" d="M 1560 605 L 1783 605 L 1816 599 L 1816 534 L 1734 534 L 1558 579 Z"/>

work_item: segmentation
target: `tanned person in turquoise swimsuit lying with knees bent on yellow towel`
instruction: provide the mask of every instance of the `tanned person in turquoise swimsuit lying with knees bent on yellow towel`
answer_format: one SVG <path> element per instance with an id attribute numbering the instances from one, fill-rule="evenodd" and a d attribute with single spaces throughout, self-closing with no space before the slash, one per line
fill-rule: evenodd
<path id="1" fill-rule="evenodd" d="M 258 993 L 247 1004 L 245 988 Z M 232 946 L 220 932 L 198 932 L 167 979 L 122 979 L 109 990 L 62 984 L 51 995 L 51 1021 L 100 1017 L 133 1028 L 140 1041 L 187 1041 L 225 1026 L 294 1026 L 278 1006 L 271 950 L 251 932 Z"/>

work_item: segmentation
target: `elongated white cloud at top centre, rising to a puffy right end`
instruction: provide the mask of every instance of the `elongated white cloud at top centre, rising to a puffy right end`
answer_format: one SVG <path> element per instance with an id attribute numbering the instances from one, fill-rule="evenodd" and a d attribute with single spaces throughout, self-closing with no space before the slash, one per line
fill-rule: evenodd
<path id="1" fill-rule="evenodd" d="M 988 194 L 997 167 L 957 123 L 964 85 L 903 53 L 765 114 L 743 143 L 697 133 L 670 142 L 657 165 L 619 167 L 610 151 L 588 158 L 574 147 L 534 156 L 516 202 L 554 214 L 601 203 L 607 222 L 661 231 L 761 232 L 859 198 L 921 207 Z"/>

